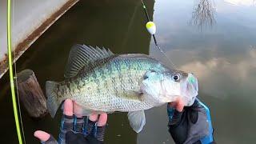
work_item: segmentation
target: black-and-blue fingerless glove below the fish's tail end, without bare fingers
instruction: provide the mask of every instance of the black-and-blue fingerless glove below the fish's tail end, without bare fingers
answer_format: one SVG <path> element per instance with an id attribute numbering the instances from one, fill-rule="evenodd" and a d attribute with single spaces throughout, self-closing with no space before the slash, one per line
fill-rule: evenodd
<path id="1" fill-rule="evenodd" d="M 66 116 L 62 118 L 58 142 L 51 135 L 44 144 L 102 144 L 106 126 L 97 126 L 89 118 Z"/>

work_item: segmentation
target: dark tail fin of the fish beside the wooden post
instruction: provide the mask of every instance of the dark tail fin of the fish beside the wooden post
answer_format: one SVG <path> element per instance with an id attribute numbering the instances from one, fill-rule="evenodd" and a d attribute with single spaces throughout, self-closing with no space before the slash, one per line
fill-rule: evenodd
<path id="1" fill-rule="evenodd" d="M 46 106 L 52 118 L 54 118 L 54 115 L 58 110 L 58 106 L 62 102 L 58 100 L 57 94 L 54 92 L 56 86 L 58 86 L 58 82 L 46 81 Z"/>

